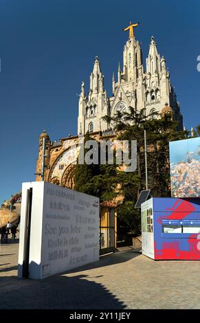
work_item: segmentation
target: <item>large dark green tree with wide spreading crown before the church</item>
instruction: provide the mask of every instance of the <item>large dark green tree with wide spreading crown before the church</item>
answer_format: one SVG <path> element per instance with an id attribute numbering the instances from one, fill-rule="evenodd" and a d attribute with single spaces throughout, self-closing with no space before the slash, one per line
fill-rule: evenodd
<path id="1" fill-rule="evenodd" d="M 159 116 L 159 118 L 157 118 Z M 150 118 L 151 117 L 151 118 Z M 153 118 L 152 118 L 153 117 Z M 118 208 L 118 224 L 126 232 L 137 234 L 140 230 L 140 209 L 135 209 L 135 202 L 141 190 L 146 189 L 144 161 L 144 130 L 146 130 L 148 188 L 157 197 L 170 196 L 170 165 L 168 142 L 186 139 L 187 131 L 177 131 L 178 124 L 171 114 L 153 116 L 144 115 L 144 110 L 118 112 L 113 118 L 105 116 L 104 120 L 115 124 L 115 131 L 120 140 L 137 140 L 137 170 L 135 173 L 118 174 L 124 203 Z M 129 145 L 131 146 L 131 145 Z"/>

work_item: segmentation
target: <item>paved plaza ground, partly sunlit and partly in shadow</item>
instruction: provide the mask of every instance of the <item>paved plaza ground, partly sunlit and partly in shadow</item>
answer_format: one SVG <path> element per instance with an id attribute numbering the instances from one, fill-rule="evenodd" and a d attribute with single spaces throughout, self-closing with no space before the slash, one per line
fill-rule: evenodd
<path id="1" fill-rule="evenodd" d="M 0 309 L 200 309 L 200 262 L 131 247 L 45 280 L 19 280 L 18 241 L 0 247 Z"/>

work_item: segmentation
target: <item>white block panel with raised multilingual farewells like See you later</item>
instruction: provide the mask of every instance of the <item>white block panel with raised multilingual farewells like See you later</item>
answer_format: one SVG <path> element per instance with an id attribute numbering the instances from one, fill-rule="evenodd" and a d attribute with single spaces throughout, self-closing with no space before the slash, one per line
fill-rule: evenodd
<path id="1" fill-rule="evenodd" d="M 23 183 L 19 278 L 23 277 L 27 245 L 29 278 L 42 279 L 99 260 L 99 199 L 47 182 Z"/>

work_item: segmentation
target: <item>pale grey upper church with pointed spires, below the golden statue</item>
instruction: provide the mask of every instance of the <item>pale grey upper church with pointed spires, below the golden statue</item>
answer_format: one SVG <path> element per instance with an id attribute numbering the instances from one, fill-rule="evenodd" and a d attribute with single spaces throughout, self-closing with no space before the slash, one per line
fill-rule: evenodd
<path id="1" fill-rule="evenodd" d="M 96 56 L 93 71 L 90 75 L 89 93 L 85 93 L 82 82 L 78 104 L 78 134 L 87 131 L 107 131 L 111 124 L 102 120 L 104 115 L 113 116 L 116 111 L 129 111 L 129 107 L 137 109 L 153 118 L 157 111 L 162 112 L 165 106 L 173 109 L 174 119 L 183 129 L 182 115 L 175 91 L 170 83 L 169 71 L 166 69 L 164 57 L 157 52 L 153 36 L 146 58 L 146 71 L 142 61 L 142 49 L 135 37 L 129 38 L 124 45 L 123 68 L 118 67 L 118 79 L 112 80 L 113 95 L 108 98 L 104 89 L 104 76 L 100 62 Z"/>

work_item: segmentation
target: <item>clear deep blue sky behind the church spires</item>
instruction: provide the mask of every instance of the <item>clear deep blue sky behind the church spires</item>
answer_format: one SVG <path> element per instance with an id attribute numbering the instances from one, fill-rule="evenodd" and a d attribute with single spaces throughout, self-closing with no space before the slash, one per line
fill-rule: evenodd
<path id="1" fill-rule="evenodd" d="M 80 83 L 96 55 L 105 87 L 122 63 L 129 21 L 144 58 L 151 36 L 166 58 L 188 129 L 200 123 L 200 3 L 189 0 L 1 0 L 0 202 L 33 181 L 38 136 L 76 134 Z"/>

